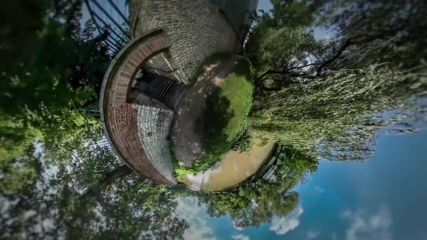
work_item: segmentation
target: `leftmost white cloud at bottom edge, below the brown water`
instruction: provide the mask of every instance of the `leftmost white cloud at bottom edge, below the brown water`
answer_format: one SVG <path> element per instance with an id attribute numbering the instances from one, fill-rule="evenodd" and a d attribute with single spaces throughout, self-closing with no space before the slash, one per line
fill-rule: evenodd
<path id="1" fill-rule="evenodd" d="M 190 225 L 183 234 L 185 240 L 216 240 L 213 229 L 208 226 L 206 219 L 202 218 L 202 214 L 206 214 L 204 208 L 192 204 L 190 199 L 180 199 L 176 213 Z"/>

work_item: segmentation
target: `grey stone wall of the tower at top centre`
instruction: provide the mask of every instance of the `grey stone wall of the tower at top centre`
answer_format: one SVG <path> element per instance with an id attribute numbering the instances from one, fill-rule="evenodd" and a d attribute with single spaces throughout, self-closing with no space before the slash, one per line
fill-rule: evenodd
<path id="1" fill-rule="evenodd" d="M 211 1 L 131 0 L 129 9 L 133 36 L 160 27 L 171 43 L 169 63 L 156 56 L 147 65 L 165 72 L 173 69 L 175 78 L 184 83 L 209 55 L 239 51 L 235 29 Z"/>

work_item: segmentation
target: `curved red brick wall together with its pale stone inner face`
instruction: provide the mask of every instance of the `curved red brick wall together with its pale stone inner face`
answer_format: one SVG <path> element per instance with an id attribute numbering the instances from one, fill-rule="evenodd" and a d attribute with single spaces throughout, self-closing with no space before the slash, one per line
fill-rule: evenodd
<path id="1" fill-rule="evenodd" d="M 126 46 L 112 60 L 103 79 L 100 113 L 110 144 L 133 171 L 157 182 L 175 185 L 176 178 L 173 177 L 171 159 L 162 152 L 164 143 L 157 144 L 152 138 L 148 138 L 149 132 L 141 133 L 145 131 L 145 126 L 141 123 L 145 122 L 149 131 L 152 131 L 151 125 L 155 124 L 156 133 L 152 134 L 159 134 L 157 140 L 166 142 L 166 138 L 162 136 L 164 131 L 166 133 L 169 131 L 170 110 L 157 107 L 153 111 L 154 107 L 138 105 L 141 101 L 147 103 L 140 98 L 137 98 L 138 102 L 129 102 L 131 95 L 129 89 L 136 69 L 153 55 L 167 51 L 168 48 L 169 40 L 161 30 L 149 32 L 143 38 L 136 39 Z M 150 114 L 147 114 L 145 109 L 150 111 Z M 160 116 L 165 117 L 160 119 Z"/>

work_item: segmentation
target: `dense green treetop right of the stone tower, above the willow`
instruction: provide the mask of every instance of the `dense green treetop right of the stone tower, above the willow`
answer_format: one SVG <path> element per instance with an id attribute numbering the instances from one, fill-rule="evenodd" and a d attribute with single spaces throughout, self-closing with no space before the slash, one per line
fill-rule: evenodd
<path id="1" fill-rule="evenodd" d="M 245 49 L 259 74 L 305 61 L 317 47 L 313 31 L 307 29 L 314 20 L 311 1 L 272 1 L 272 5 L 271 13 L 258 16 Z"/>

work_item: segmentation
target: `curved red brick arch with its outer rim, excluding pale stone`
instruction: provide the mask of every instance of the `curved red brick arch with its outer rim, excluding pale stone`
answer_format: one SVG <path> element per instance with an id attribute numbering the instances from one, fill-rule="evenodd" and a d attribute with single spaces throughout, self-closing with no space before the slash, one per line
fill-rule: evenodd
<path id="1" fill-rule="evenodd" d="M 126 165 L 146 178 L 176 185 L 176 178 L 170 170 L 165 173 L 152 162 L 157 159 L 147 157 L 140 138 L 142 129 L 138 126 L 138 105 L 128 98 L 138 69 L 152 56 L 167 51 L 169 47 L 169 39 L 162 29 L 147 32 L 127 44 L 105 73 L 100 93 L 100 116 L 107 139 Z"/>

